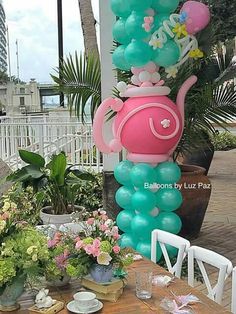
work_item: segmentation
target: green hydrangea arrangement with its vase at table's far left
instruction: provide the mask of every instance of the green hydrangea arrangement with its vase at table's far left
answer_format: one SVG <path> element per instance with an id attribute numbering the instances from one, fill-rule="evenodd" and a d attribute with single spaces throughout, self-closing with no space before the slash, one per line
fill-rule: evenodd
<path id="1" fill-rule="evenodd" d="M 0 311 L 13 311 L 26 280 L 43 275 L 47 239 L 21 220 L 12 203 L 0 209 L 0 243 Z"/>

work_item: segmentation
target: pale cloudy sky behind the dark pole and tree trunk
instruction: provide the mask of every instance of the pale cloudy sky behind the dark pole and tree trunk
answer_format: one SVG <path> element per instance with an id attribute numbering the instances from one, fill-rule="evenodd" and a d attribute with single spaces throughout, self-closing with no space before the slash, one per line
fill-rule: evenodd
<path id="1" fill-rule="evenodd" d="M 83 51 L 78 0 L 64 0 L 64 54 Z M 98 0 L 92 0 L 98 20 Z M 20 78 L 49 82 L 58 64 L 57 1 L 4 0 L 9 29 L 11 72 L 16 75 L 16 40 L 19 45 Z"/>

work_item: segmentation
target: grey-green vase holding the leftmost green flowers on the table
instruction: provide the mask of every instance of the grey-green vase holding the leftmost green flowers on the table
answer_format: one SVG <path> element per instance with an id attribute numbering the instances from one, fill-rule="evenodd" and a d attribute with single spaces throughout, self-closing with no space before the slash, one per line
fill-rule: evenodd
<path id="1" fill-rule="evenodd" d="M 19 309 L 20 305 L 16 301 L 24 291 L 25 280 L 25 275 L 18 275 L 6 286 L 0 295 L 0 311 L 10 312 Z"/>

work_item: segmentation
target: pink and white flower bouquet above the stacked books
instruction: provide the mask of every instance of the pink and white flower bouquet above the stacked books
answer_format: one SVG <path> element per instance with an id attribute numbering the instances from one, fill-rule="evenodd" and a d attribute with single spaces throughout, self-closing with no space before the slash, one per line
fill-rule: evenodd
<path id="1" fill-rule="evenodd" d="M 84 234 L 84 237 L 76 239 L 75 248 L 78 258 L 84 261 L 87 273 L 93 264 L 112 264 L 121 273 L 124 266 L 132 263 L 132 257 L 127 256 L 126 250 L 118 244 L 118 227 L 105 211 L 93 212 L 85 223 Z"/>

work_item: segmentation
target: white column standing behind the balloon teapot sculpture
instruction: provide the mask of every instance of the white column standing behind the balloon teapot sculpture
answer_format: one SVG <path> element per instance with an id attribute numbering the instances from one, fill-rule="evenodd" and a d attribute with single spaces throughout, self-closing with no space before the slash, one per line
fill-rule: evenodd
<path id="1" fill-rule="evenodd" d="M 100 56 L 101 56 L 101 81 L 102 99 L 112 96 L 113 86 L 116 85 L 115 71 L 112 70 L 112 26 L 115 16 L 110 8 L 110 0 L 99 0 L 100 20 Z M 107 142 L 112 139 L 112 121 L 104 126 L 104 137 Z M 104 171 L 113 171 L 119 162 L 119 154 L 103 155 Z"/>

